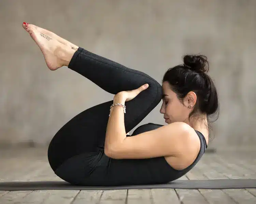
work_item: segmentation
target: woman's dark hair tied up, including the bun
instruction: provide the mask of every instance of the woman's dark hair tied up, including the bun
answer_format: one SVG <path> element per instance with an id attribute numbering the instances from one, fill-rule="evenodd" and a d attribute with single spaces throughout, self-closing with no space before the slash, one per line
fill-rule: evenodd
<path id="1" fill-rule="evenodd" d="M 209 62 L 204 55 L 185 55 L 182 65 L 167 70 L 162 82 L 169 82 L 171 89 L 183 101 L 189 91 L 194 91 L 197 101 L 193 112 L 189 115 L 207 114 L 207 119 L 218 110 L 216 87 L 209 77 Z"/>

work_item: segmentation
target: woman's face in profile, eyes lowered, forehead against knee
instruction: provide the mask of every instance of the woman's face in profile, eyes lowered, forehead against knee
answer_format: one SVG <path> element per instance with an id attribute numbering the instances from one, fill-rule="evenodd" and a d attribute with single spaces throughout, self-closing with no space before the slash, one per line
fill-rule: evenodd
<path id="1" fill-rule="evenodd" d="M 163 114 L 165 122 L 170 124 L 173 122 L 184 122 L 188 119 L 189 113 L 192 111 L 193 99 L 185 97 L 183 103 L 177 98 L 176 94 L 171 90 L 168 82 L 163 82 L 163 103 L 160 113 Z M 187 98 L 187 99 L 186 99 Z M 188 106 L 191 108 L 188 108 Z"/>

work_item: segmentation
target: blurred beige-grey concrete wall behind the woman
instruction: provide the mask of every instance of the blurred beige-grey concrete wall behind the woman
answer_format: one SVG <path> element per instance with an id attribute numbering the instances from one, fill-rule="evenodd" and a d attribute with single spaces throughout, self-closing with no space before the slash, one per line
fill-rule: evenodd
<path id="1" fill-rule="evenodd" d="M 221 103 L 210 146 L 255 148 L 255 9 L 254 0 L 1 0 L 1 143 L 47 144 L 73 116 L 113 99 L 67 68 L 49 71 L 26 21 L 158 82 L 182 55 L 207 55 Z M 165 124 L 160 105 L 139 125 Z"/>

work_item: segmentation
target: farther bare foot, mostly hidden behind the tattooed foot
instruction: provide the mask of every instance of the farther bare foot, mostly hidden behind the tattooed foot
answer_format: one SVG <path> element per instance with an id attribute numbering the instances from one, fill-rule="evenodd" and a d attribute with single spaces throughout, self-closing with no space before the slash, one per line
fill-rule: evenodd
<path id="1" fill-rule="evenodd" d="M 51 31 L 48 31 L 44 28 L 40 28 L 38 26 L 35 26 L 34 24 L 28 24 L 28 23 L 23 23 L 22 26 L 24 29 L 26 29 L 27 26 L 30 26 L 30 27 L 34 27 L 39 33 L 44 33 L 45 35 L 49 36 L 50 38 L 53 38 L 53 39 L 56 39 L 58 40 L 60 43 L 64 44 L 64 45 L 67 45 L 67 46 L 70 46 L 72 49 L 75 49 L 77 50 L 79 47 L 70 43 L 68 40 L 58 36 L 57 34 L 51 32 Z"/>

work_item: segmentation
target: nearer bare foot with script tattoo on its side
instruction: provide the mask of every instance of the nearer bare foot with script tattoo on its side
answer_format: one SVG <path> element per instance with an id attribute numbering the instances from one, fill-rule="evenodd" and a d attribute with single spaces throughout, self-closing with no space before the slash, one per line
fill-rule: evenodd
<path id="1" fill-rule="evenodd" d="M 62 66 L 68 65 L 75 52 L 74 50 L 48 35 L 38 32 L 33 26 L 28 25 L 25 30 L 42 51 L 46 65 L 50 70 L 56 70 Z"/>

